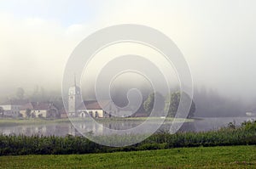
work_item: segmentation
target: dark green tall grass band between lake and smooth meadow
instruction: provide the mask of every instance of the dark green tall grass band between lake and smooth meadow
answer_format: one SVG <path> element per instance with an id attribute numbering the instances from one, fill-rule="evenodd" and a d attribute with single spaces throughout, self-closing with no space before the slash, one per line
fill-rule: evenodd
<path id="1" fill-rule="evenodd" d="M 103 136 L 102 139 L 104 139 Z M 122 140 L 122 136 L 114 136 L 113 139 Z M 210 132 L 155 133 L 139 144 L 121 148 L 103 146 L 90 141 L 88 138 L 72 135 L 67 135 L 64 138 L 56 136 L 0 135 L 0 155 L 87 154 L 244 144 L 256 144 L 256 121 L 244 122 L 241 127 L 236 127 L 230 123 L 228 127 Z"/>

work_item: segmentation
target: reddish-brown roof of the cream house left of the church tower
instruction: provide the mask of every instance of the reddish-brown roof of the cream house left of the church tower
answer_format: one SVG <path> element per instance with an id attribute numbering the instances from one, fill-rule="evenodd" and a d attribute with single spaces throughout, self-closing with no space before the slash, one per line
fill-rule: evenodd
<path id="1" fill-rule="evenodd" d="M 27 104 L 22 105 L 20 110 L 49 110 L 50 108 L 56 109 L 55 105 L 49 102 L 29 102 Z"/>

